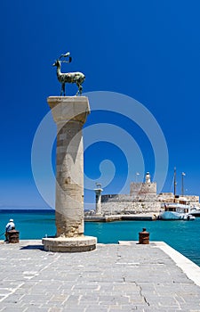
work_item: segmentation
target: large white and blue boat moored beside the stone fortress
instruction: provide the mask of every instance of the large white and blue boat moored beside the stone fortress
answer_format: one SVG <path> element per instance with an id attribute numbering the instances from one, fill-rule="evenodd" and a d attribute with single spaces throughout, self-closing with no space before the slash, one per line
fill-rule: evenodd
<path id="1" fill-rule="evenodd" d="M 165 203 L 164 211 L 159 214 L 159 219 L 162 220 L 188 220 L 193 221 L 196 219 L 190 213 L 190 207 L 188 205 L 180 203 Z"/>

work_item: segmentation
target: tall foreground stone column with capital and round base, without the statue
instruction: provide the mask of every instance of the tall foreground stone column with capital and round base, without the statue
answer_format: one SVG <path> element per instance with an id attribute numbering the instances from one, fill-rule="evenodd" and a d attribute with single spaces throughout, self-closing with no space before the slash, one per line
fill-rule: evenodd
<path id="1" fill-rule="evenodd" d="M 96 237 L 84 236 L 84 148 L 82 127 L 90 113 L 87 97 L 50 96 L 57 124 L 56 228 L 44 238 L 44 250 L 73 252 L 96 248 Z"/>

